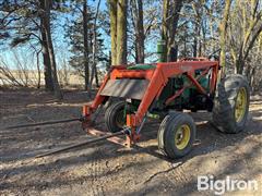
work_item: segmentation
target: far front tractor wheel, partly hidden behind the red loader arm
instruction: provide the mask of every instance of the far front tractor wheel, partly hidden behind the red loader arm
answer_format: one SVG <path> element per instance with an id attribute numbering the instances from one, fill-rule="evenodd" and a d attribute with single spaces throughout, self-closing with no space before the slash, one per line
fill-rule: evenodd
<path id="1" fill-rule="evenodd" d="M 124 101 L 117 101 L 111 103 L 105 113 L 105 123 L 106 128 L 111 132 L 116 133 L 123 128 L 126 125 L 124 119 Z"/>

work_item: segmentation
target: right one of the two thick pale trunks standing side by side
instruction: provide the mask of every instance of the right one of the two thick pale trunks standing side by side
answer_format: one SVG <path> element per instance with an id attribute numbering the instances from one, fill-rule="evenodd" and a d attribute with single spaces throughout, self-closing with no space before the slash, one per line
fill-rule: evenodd
<path id="1" fill-rule="evenodd" d="M 127 0 L 117 8 L 117 64 L 127 64 Z"/>

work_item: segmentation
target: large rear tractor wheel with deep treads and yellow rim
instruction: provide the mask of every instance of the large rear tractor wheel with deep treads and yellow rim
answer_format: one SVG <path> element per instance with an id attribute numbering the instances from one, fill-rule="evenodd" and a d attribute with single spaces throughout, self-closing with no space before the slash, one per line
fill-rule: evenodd
<path id="1" fill-rule="evenodd" d="M 239 74 L 226 76 L 221 84 L 212 111 L 212 124 L 224 133 L 239 133 L 248 120 L 250 89 L 248 81 Z"/>

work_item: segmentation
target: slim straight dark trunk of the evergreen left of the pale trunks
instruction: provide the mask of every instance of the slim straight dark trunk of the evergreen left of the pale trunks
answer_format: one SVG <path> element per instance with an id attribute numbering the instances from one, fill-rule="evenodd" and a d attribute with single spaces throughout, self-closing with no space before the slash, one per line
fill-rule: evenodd
<path id="1" fill-rule="evenodd" d="M 88 60 L 88 28 L 87 28 L 87 0 L 83 0 L 83 30 L 84 30 L 84 78 L 85 90 L 88 89 L 90 83 L 90 60 Z"/>

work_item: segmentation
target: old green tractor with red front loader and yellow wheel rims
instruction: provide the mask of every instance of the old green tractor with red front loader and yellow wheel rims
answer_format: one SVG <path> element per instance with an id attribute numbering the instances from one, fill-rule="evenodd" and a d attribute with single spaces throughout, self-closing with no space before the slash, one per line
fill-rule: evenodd
<path id="1" fill-rule="evenodd" d="M 235 134 L 248 120 L 250 90 L 242 75 L 225 76 L 217 60 L 184 58 L 176 62 L 111 66 L 92 105 L 83 106 L 83 126 L 102 106 L 106 127 L 124 130 L 126 145 L 139 142 L 147 118 L 162 120 L 159 150 L 170 159 L 189 154 L 195 123 L 183 110 L 212 112 L 212 124 Z"/>

